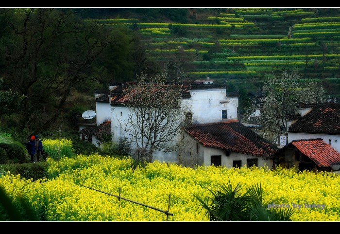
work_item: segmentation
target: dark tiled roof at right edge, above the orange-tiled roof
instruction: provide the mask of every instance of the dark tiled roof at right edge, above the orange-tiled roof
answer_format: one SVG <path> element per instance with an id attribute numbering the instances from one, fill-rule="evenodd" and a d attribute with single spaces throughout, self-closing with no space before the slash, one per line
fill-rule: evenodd
<path id="1" fill-rule="evenodd" d="M 289 132 L 340 135 L 340 104 L 314 104 L 306 115 L 289 126 Z"/>

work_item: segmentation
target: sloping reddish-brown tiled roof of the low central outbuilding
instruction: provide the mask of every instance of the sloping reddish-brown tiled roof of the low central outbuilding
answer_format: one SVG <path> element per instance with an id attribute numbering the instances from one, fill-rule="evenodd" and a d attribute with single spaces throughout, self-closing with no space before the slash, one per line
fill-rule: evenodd
<path id="1" fill-rule="evenodd" d="M 237 120 L 192 125 L 185 130 L 206 147 L 262 157 L 269 156 L 278 149 Z"/>

